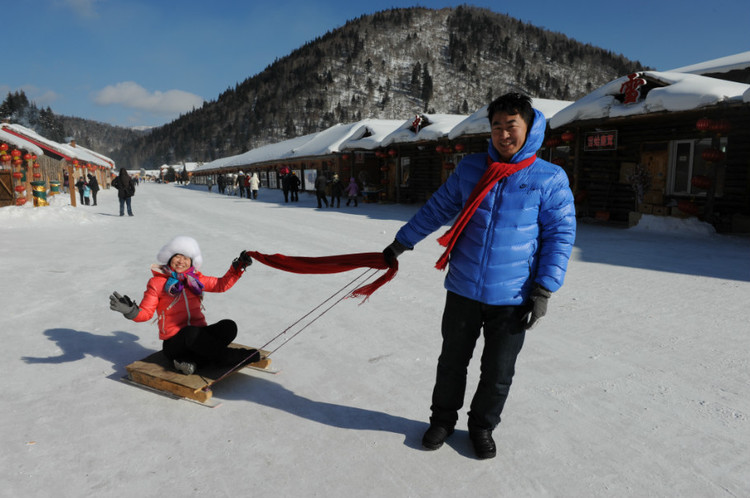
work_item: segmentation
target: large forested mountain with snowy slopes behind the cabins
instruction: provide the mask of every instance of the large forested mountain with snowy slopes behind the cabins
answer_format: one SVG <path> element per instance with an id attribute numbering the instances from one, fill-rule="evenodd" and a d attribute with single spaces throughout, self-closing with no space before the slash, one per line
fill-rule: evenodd
<path id="1" fill-rule="evenodd" d="M 340 122 L 470 114 L 511 90 L 575 100 L 639 69 L 487 9 L 392 9 L 351 20 L 201 108 L 117 150 L 99 150 L 128 169 L 205 162 Z M 68 120 L 66 133 L 80 125 Z"/>

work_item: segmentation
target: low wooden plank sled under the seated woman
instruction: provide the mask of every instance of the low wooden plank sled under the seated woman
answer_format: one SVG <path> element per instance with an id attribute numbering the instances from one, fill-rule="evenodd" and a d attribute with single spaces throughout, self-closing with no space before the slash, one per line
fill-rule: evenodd
<path id="1" fill-rule="evenodd" d="M 229 347 L 250 349 L 248 346 L 236 343 L 230 344 Z M 261 350 L 260 353 L 261 360 L 237 369 L 233 374 L 245 368 L 271 372 L 269 369 L 271 359 L 266 358 L 269 351 Z M 157 351 L 125 367 L 125 370 L 128 372 L 127 379 L 136 384 L 200 403 L 208 402 L 213 394 L 210 389 L 205 391 L 202 389 L 224 375 L 229 369 L 230 367 L 227 366 L 219 367 L 211 365 L 199 368 L 193 375 L 184 375 L 175 371 L 172 362 L 161 351 Z"/>

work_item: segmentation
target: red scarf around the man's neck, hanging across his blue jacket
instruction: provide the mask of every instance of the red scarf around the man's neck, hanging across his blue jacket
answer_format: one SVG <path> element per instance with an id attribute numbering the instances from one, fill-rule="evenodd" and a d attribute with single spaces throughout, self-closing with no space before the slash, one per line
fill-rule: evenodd
<path id="1" fill-rule="evenodd" d="M 490 156 L 487 156 L 487 169 L 484 171 L 482 178 L 479 179 L 479 182 L 477 182 L 474 190 L 471 191 L 471 195 L 469 195 L 469 199 L 464 204 L 461 214 L 458 215 L 453 226 L 438 239 L 438 243 L 441 246 L 445 246 L 446 249 L 443 255 L 440 256 L 440 259 L 437 260 L 437 263 L 435 263 L 435 268 L 445 270 L 445 267 L 448 265 L 448 256 L 453 250 L 453 246 L 456 245 L 458 237 L 469 223 L 471 217 L 474 216 L 474 213 L 487 193 L 492 190 L 492 187 L 506 176 L 510 176 L 530 166 L 536 159 L 536 156 L 531 156 L 520 163 L 493 163 L 490 160 Z"/>

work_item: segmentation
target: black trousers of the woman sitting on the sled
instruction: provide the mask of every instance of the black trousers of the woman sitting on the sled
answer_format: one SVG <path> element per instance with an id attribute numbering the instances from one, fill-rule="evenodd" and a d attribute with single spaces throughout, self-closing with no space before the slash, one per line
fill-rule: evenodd
<path id="1" fill-rule="evenodd" d="M 162 343 L 162 351 L 170 360 L 192 361 L 199 367 L 223 363 L 227 346 L 237 337 L 237 324 L 221 320 L 213 325 L 188 325 Z"/>

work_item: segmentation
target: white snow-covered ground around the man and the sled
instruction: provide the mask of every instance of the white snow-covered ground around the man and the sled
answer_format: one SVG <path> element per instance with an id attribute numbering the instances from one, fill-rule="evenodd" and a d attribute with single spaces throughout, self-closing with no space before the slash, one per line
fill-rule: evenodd
<path id="1" fill-rule="evenodd" d="M 437 234 L 368 302 L 342 301 L 280 349 L 279 375 L 218 385 L 217 408 L 122 382 L 160 343 L 109 294 L 140 300 L 172 236 L 198 239 L 216 275 L 241 249 L 379 251 L 416 209 L 280 199 L 149 184 L 133 218 L 114 191 L 97 207 L 0 209 L 0 496 L 750 496 L 750 240 L 696 223 L 580 225 L 493 460 L 473 457 L 465 413 L 446 446 L 420 448 L 444 300 Z M 357 274 L 256 263 L 206 297 L 206 315 L 263 344 Z"/>

